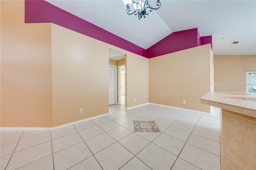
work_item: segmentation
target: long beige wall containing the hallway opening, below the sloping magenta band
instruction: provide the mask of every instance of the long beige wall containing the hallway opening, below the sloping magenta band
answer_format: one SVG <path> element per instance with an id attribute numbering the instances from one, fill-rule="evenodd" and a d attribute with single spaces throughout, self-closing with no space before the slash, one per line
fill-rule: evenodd
<path id="1" fill-rule="evenodd" d="M 136 69 L 142 65 L 140 70 L 148 74 L 148 63 L 146 67 L 143 63 L 148 59 L 52 24 L 53 127 L 108 113 L 109 48 L 127 53 L 129 58 L 134 58 L 131 67 Z M 123 61 L 117 63 L 123 64 Z M 130 75 L 130 81 L 141 76 L 132 71 Z M 144 81 L 140 82 L 148 86 L 148 79 Z M 144 96 L 148 96 L 148 90 L 144 88 L 131 85 L 130 91 L 138 89 L 139 101 L 147 103 L 148 97 L 145 100 Z M 80 108 L 83 113 L 79 113 Z"/>

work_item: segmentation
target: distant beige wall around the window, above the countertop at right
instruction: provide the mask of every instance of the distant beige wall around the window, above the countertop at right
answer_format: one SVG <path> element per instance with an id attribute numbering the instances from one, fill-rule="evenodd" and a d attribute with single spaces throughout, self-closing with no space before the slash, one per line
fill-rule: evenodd
<path id="1" fill-rule="evenodd" d="M 256 55 L 215 55 L 214 91 L 245 92 L 245 72 L 256 70 Z"/>

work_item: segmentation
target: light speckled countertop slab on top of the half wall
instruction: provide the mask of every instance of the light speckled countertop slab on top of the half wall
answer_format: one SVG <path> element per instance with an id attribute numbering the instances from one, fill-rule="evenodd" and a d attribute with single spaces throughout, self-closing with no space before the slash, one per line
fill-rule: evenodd
<path id="1" fill-rule="evenodd" d="M 201 103 L 256 117 L 256 93 L 210 92 L 201 98 Z"/>

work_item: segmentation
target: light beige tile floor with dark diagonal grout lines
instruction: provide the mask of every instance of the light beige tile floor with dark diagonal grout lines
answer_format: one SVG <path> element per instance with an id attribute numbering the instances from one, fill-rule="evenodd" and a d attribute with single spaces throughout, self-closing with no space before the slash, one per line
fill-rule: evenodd
<path id="1" fill-rule="evenodd" d="M 144 105 L 54 131 L 0 131 L 1 170 L 220 169 L 220 117 Z M 134 132 L 155 121 L 161 132 Z"/>

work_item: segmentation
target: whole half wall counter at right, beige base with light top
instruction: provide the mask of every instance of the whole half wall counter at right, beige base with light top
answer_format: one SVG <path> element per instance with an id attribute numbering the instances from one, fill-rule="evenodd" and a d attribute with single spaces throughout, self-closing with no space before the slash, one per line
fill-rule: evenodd
<path id="1" fill-rule="evenodd" d="M 256 169 L 256 93 L 210 92 L 201 103 L 220 108 L 221 169 Z"/>

